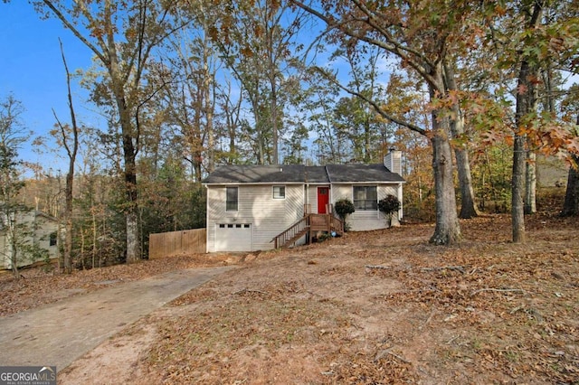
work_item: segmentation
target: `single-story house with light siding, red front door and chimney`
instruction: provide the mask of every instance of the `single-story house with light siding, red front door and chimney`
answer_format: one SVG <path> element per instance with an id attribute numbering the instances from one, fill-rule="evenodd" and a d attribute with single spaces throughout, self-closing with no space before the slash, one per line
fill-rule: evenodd
<path id="1" fill-rule="evenodd" d="M 280 233 L 308 213 L 326 213 L 343 198 L 356 207 L 346 219 L 350 230 L 384 229 L 386 218 L 377 203 L 390 194 L 403 201 L 401 157 L 393 150 L 384 164 L 219 167 L 204 179 L 207 252 L 273 249 L 272 239 Z M 297 243 L 304 242 L 305 236 Z"/>

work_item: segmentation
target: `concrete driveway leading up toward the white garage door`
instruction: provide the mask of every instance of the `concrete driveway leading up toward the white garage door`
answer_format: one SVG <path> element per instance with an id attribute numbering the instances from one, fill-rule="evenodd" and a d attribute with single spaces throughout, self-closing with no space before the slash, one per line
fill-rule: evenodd
<path id="1" fill-rule="evenodd" d="M 232 268 L 174 271 L 0 317 L 0 366 L 62 371 L 128 324 Z"/>

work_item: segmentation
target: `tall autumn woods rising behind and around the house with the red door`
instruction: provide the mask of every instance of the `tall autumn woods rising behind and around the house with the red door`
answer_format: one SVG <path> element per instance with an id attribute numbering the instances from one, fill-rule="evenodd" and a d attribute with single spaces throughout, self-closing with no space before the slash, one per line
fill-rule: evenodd
<path id="1" fill-rule="evenodd" d="M 404 210 L 436 221 L 432 243 L 459 241 L 458 218 L 479 210 L 510 211 L 524 242 L 536 155 L 579 153 L 572 1 L 30 3 L 93 52 L 91 68 L 68 69 L 62 47 L 62 81 L 90 100 L 69 92 L 51 140 L 0 96 L 3 211 L 58 218 L 65 271 L 146 258 L 148 234 L 204 227 L 201 182 L 221 164 L 381 163 L 391 147 Z M 107 127 L 76 121 L 82 103 Z M 69 169 L 20 161 L 31 140 L 55 141 Z M 573 167 L 568 180 L 562 211 L 576 215 Z"/>

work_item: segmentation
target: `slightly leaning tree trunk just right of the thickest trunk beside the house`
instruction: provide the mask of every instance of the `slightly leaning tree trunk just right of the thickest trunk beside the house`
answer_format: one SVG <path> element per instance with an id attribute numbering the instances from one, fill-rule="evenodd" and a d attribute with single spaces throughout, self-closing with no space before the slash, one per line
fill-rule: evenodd
<path id="1" fill-rule="evenodd" d="M 445 64 L 444 72 L 446 77 L 446 88 L 448 90 L 457 90 L 456 81 L 454 80 L 454 70 L 451 65 Z M 452 105 L 454 118 L 451 119 L 452 137 L 459 138 L 464 135 L 464 118 L 458 103 Z M 470 174 L 469 151 L 466 145 L 454 147 L 456 156 L 457 171 L 459 174 L 460 186 L 460 218 L 470 219 L 479 216 L 479 209 L 474 197 L 474 188 L 472 187 L 472 175 Z"/>

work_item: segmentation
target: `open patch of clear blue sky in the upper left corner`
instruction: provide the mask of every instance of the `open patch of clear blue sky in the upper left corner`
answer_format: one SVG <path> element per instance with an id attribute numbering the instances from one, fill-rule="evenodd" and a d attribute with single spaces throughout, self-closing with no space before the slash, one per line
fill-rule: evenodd
<path id="1" fill-rule="evenodd" d="M 0 2 L 0 99 L 12 93 L 22 102 L 22 121 L 33 136 L 45 136 L 53 127 L 52 108 L 62 122 L 70 121 L 59 37 L 69 70 L 88 68 L 91 52 L 62 23 L 42 20 L 25 0 Z M 73 98 L 78 118 L 88 123 L 94 115 L 85 102 L 87 94 L 74 83 Z M 54 159 L 53 154 L 33 153 L 30 146 L 24 146 L 20 155 L 45 167 Z"/>

